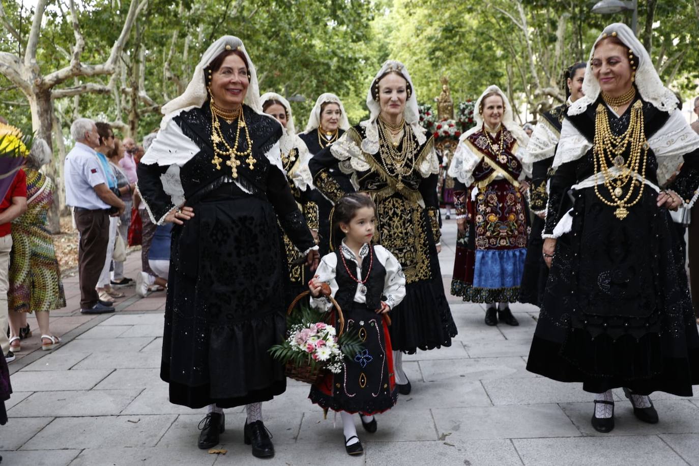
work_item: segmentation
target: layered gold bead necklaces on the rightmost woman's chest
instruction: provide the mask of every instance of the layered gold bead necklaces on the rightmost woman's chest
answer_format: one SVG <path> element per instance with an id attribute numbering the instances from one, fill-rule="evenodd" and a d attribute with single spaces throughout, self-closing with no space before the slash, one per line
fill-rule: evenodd
<path id="1" fill-rule="evenodd" d="M 627 102 L 628 104 L 628 102 Z M 628 149 L 628 160 L 624 160 L 624 152 Z M 593 160 L 595 164 L 595 182 L 597 174 L 602 173 L 604 185 L 610 193 L 611 200 L 605 199 L 600 193 L 599 185 L 595 183 L 595 194 L 607 206 L 617 207 L 614 216 L 624 220 L 628 209 L 640 201 L 643 195 L 643 184 L 646 179 L 646 162 L 648 158 L 648 143 L 644 133 L 643 106 L 636 101 L 631 107 L 631 118 L 628 128 L 621 136 L 614 136 L 610 129 L 607 109 L 602 104 L 597 106 L 595 119 L 595 139 L 593 141 Z M 614 176 L 610 166 L 616 167 L 619 174 Z M 640 174 L 641 180 L 637 180 Z M 635 199 L 631 201 L 635 188 L 638 188 Z M 624 194 L 626 192 L 626 195 Z"/>

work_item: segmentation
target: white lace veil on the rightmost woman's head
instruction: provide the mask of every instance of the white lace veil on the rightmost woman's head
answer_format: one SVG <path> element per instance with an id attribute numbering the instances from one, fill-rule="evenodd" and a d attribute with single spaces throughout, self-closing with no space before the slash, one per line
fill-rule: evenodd
<path id="1" fill-rule="evenodd" d="M 600 95 L 600 83 L 592 73 L 591 63 L 597 44 L 603 38 L 607 38 L 607 36 L 617 36 L 617 38 L 633 52 L 633 55 L 635 55 L 638 61 L 635 70 L 635 85 L 642 99 L 649 102 L 660 111 L 667 113 L 675 111 L 677 107 L 677 97 L 675 97 L 675 94 L 671 90 L 663 85 L 663 81 L 661 81 L 660 76 L 658 76 L 658 72 L 655 66 L 653 66 L 653 62 L 651 62 L 651 57 L 648 55 L 647 50 L 626 24 L 615 22 L 605 27 L 602 34 L 600 34 L 595 41 L 595 45 L 592 46 L 590 50 L 590 59 L 585 68 L 585 80 L 582 83 L 582 92 L 585 93 L 585 96 L 572 103 L 568 109 L 568 115 L 579 115 L 583 113 L 589 105 L 597 101 Z"/>

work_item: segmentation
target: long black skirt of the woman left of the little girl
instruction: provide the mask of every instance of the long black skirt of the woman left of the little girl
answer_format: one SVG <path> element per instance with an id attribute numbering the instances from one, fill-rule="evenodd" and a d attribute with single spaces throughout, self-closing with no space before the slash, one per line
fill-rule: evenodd
<path id="1" fill-rule="evenodd" d="M 271 400 L 286 389 L 267 352 L 286 332 L 277 219 L 253 196 L 194 204 L 175 226 L 161 379 L 192 408 Z"/>

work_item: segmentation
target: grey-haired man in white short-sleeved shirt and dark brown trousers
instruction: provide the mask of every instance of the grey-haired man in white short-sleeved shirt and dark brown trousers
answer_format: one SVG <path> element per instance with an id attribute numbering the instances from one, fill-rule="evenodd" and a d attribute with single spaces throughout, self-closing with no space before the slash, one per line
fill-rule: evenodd
<path id="1" fill-rule="evenodd" d="M 74 208 L 75 225 L 80 232 L 80 312 L 114 312 L 111 302 L 100 300 L 96 285 L 107 256 L 110 216 L 121 216 L 125 206 L 109 189 L 97 158 L 95 149 L 101 146 L 101 138 L 94 121 L 78 118 L 71 125 L 71 135 L 75 147 L 66 155 L 64 176 L 66 204 Z"/>

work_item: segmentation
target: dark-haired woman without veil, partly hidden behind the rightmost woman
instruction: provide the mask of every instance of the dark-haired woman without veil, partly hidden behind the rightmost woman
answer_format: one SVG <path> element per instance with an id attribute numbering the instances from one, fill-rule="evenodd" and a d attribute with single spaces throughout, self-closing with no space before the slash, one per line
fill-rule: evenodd
<path id="1" fill-rule="evenodd" d="M 541 248 L 544 245 L 541 234 L 544 231 L 546 204 L 549 199 L 547 184 L 549 177 L 552 176 L 551 166 L 554 163 L 556 146 L 561 138 L 561 125 L 563 125 L 565 111 L 570 104 L 583 96 L 585 65 L 584 62 L 578 62 L 565 69 L 563 79 L 566 101 L 541 115 L 541 120 L 534 128 L 526 146 L 526 153 L 522 157 L 524 162 L 532 165 L 529 207 L 535 216 L 527 243 L 524 274 L 519 285 L 519 302 L 528 302 L 535 306 L 541 306 L 546 279 L 549 276 L 549 267 L 541 255 Z"/>

